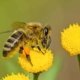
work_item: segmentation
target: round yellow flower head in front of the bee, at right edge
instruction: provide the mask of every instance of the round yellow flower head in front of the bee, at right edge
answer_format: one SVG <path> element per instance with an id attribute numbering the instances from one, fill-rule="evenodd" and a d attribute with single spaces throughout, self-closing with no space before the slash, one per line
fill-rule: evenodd
<path id="1" fill-rule="evenodd" d="M 70 55 L 80 54 L 80 25 L 73 24 L 61 32 L 61 44 Z"/>

